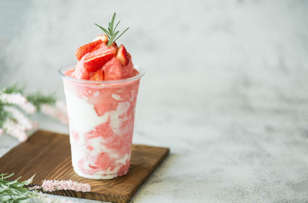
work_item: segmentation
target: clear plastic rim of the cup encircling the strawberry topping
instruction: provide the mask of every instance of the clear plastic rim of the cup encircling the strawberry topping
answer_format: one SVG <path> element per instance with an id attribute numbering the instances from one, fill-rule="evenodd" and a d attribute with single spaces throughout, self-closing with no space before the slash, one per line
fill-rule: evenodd
<path id="1" fill-rule="evenodd" d="M 64 66 L 64 67 L 59 69 L 58 73 L 62 78 L 65 78 L 67 80 L 72 80 L 72 81 L 80 82 L 80 83 L 88 83 L 88 84 L 110 84 L 110 83 L 128 82 L 128 81 L 136 80 L 136 79 L 142 77 L 145 73 L 144 70 L 142 68 L 140 68 L 139 66 L 134 66 L 134 69 L 136 69 L 139 72 L 139 74 L 134 76 L 134 77 L 125 78 L 125 79 L 121 79 L 121 80 L 93 81 L 93 80 L 83 80 L 83 79 L 73 78 L 73 77 L 64 75 L 64 72 L 71 70 L 71 69 L 74 69 L 75 67 L 76 67 L 76 64 Z"/>

